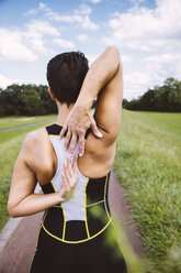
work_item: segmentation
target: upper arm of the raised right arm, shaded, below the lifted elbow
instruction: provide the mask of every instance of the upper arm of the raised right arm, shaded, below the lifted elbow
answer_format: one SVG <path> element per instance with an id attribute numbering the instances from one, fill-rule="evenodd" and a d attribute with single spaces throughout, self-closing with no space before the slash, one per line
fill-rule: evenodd
<path id="1" fill-rule="evenodd" d="M 111 143 L 115 142 L 120 131 L 122 99 L 123 75 L 120 62 L 115 76 L 99 94 L 94 112 L 98 127 Z"/>

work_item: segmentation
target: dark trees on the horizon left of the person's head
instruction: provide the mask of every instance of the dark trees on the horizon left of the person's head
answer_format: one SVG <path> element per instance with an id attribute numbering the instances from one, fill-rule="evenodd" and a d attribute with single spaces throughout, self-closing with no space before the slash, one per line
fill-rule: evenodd
<path id="1" fill-rule="evenodd" d="M 57 113 L 47 86 L 11 85 L 0 89 L 0 117 Z"/>

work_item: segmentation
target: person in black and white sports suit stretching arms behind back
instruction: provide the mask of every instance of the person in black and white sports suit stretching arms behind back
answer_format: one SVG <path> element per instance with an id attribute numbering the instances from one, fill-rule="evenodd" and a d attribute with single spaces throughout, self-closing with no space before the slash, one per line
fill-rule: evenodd
<path id="1" fill-rule="evenodd" d="M 8 203 L 12 217 L 46 210 L 30 272 L 127 272 L 117 242 L 106 243 L 113 230 L 108 190 L 123 92 L 120 54 L 106 48 L 89 70 L 83 54 L 59 54 L 48 63 L 47 80 L 58 118 L 25 139 Z M 37 182 L 44 195 L 34 194 Z"/>

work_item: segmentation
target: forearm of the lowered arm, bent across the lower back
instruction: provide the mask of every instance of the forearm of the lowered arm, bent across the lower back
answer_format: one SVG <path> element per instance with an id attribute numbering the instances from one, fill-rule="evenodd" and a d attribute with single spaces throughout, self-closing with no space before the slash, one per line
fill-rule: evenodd
<path id="1" fill-rule="evenodd" d="M 43 211 L 49 207 L 60 204 L 64 198 L 59 193 L 31 194 L 20 203 L 8 204 L 8 211 L 11 217 L 21 217 Z"/>

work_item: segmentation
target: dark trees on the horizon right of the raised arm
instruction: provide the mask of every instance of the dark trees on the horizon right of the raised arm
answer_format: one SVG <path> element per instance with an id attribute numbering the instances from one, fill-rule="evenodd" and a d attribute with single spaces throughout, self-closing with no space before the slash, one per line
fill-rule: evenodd
<path id="1" fill-rule="evenodd" d="M 138 99 L 123 99 L 129 110 L 181 112 L 181 80 L 167 78 L 162 86 L 148 89 Z"/>

